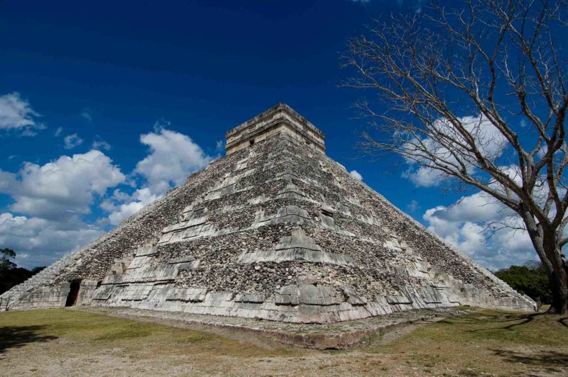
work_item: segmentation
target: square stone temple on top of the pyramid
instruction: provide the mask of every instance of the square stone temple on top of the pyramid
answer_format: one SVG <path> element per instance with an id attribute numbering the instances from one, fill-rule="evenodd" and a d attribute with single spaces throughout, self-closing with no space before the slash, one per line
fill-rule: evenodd
<path id="1" fill-rule="evenodd" d="M 324 133 L 290 106 L 278 103 L 226 133 L 226 154 L 250 147 L 255 142 L 280 133 L 286 133 L 325 153 Z"/>

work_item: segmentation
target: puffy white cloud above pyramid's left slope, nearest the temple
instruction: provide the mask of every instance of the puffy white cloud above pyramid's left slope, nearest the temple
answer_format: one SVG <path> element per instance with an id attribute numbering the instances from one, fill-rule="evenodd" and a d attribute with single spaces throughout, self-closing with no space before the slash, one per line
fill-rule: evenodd
<path id="1" fill-rule="evenodd" d="M 182 184 L 187 176 L 204 169 L 213 159 L 189 136 L 165 128 L 141 135 L 140 141 L 150 147 L 150 154 L 136 164 L 134 172 L 146 178 L 154 195 Z"/>

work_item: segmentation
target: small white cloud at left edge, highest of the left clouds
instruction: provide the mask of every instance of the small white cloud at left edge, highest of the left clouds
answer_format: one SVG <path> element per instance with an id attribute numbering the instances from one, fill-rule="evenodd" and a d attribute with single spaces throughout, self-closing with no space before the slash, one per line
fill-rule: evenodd
<path id="1" fill-rule="evenodd" d="M 40 130 L 45 126 L 36 121 L 40 116 L 31 108 L 30 103 L 13 92 L 0 96 L 0 129 L 16 130 L 25 136 L 36 135 L 34 129 Z"/>

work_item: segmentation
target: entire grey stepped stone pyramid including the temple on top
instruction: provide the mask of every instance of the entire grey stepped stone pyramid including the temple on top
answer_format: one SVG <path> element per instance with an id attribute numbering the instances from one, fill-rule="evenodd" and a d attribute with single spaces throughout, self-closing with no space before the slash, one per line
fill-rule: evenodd
<path id="1" fill-rule="evenodd" d="M 226 133 L 226 157 L 0 296 L 0 310 L 70 305 L 305 323 L 535 308 L 352 178 L 285 104 Z"/>

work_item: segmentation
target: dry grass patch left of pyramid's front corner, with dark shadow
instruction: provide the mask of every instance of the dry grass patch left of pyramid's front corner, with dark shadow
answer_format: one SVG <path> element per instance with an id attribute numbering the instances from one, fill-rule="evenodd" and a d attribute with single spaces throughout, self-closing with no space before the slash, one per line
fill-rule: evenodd
<path id="1" fill-rule="evenodd" d="M 280 344 L 258 347 L 209 332 L 75 310 L 0 313 L 0 363 L 22 373 L 60 374 L 80 369 L 72 363 L 67 367 L 68 360 L 77 361 L 75 365 L 85 374 L 97 373 L 98 366 L 103 374 L 115 367 L 124 374 L 148 368 L 161 374 L 186 364 L 189 370 L 228 372 L 226 358 L 246 362 L 293 356 L 298 351 Z M 37 359 L 31 359 L 34 354 Z M 38 359 L 45 362 L 37 363 Z"/>

